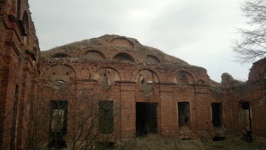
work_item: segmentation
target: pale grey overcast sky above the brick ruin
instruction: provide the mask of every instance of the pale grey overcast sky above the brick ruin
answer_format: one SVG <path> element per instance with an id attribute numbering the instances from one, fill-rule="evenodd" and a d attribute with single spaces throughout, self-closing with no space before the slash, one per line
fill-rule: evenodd
<path id="1" fill-rule="evenodd" d="M 242 0 L 29 0 L 42 51 L 67 43 L 115 34 L 137 39 L 207 69 L 221 81 L 227 72 L 247 80 L 252 64 L 241 66 L 229 47 L 247 28 Z"/>

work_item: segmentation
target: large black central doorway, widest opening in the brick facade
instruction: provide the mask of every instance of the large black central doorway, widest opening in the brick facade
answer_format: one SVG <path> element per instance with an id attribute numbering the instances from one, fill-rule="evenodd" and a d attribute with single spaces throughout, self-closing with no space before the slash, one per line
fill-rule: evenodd
<path id="1" fill-rule="evenodd" d="M 136 103 L 136 136 L 157 133 L 157 103 Z"/>

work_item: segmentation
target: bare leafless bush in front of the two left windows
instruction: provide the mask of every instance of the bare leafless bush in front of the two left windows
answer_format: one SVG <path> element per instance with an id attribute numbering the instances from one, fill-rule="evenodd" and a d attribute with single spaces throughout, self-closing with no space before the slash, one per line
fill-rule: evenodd
<path id="1" fill-rule="evenodd" d="M 17 105 L 20 123 L 9 127 L 10 149 L 97 149 L 120 138 L 123 101 L 100 88 L 49 85 L 46 97 L 39 97 L 39 91 Z"/>

